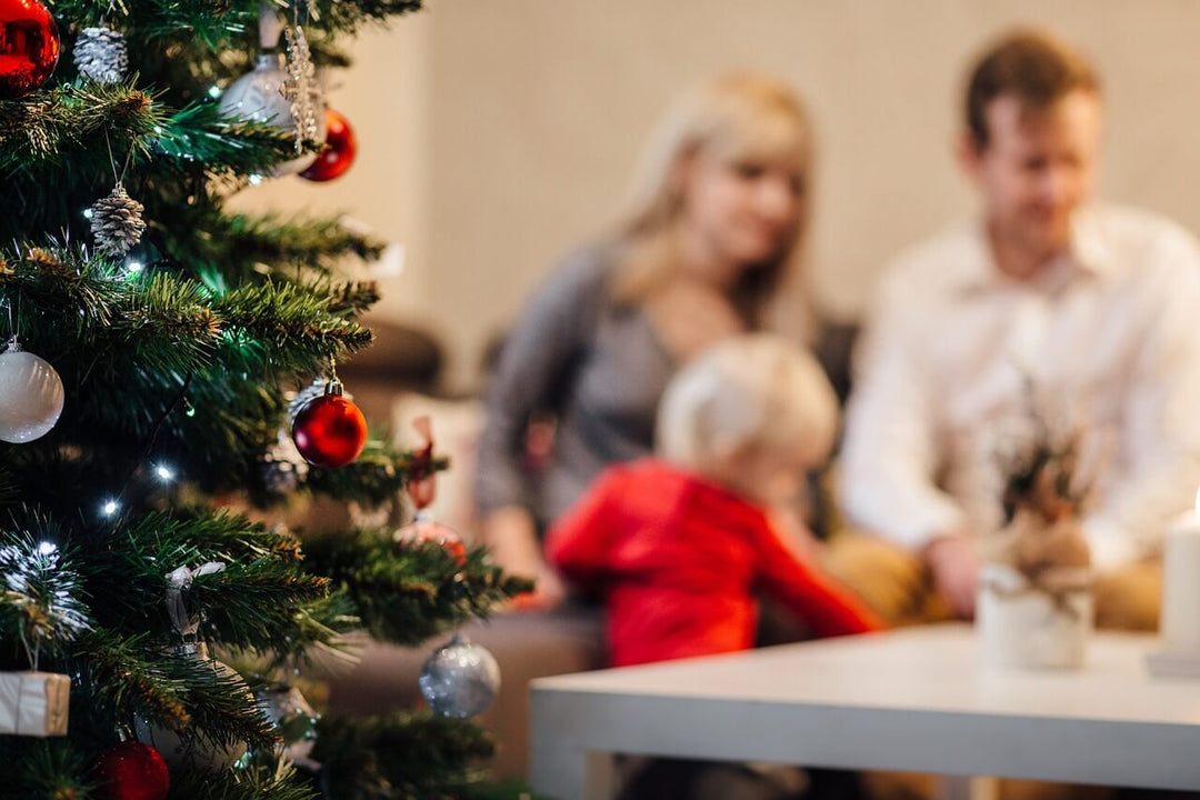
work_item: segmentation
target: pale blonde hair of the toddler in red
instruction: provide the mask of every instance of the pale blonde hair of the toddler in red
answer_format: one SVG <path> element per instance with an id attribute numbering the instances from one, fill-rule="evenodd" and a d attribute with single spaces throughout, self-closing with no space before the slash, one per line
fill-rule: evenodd
<path id="1" fill-rule="evenodd" d="M 821 366 L 779 336 L 748 333 L 713 345 L 672 378 L 658 413 L 659 456 L 721 476 L 749 449 L 811 468 L 838 432 L 838 401 Z"/>

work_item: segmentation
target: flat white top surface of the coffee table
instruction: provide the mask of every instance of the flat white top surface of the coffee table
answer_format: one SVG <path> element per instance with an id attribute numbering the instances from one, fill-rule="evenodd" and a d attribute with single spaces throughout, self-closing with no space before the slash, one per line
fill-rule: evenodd
<path id="1" fill-rule="evenodd" d="M 1200 723 L 1200 681 L 1152 678 L 1147 636 L 1097 633 L 1073 672 L 994 672 L 968 625 L 936 625 L 534 681 L 535 692 L 995 717 Z"/>

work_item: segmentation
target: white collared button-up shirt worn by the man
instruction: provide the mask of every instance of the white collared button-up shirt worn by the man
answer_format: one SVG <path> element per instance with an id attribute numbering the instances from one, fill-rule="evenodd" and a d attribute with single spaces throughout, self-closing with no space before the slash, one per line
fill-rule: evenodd
<path id="1" fill-rule="evenodd" d="M 1069 255 L 1015 281 L 982 224 L 958 227 L 884 273 L 856 373 L 841 491 L 857 525 L 912 548 L 995 530 L 1034 411 L 1081 434 L 1094 564 L 1150 555 L 1200 485 L 1200 248 L 1094 206 Z"/>

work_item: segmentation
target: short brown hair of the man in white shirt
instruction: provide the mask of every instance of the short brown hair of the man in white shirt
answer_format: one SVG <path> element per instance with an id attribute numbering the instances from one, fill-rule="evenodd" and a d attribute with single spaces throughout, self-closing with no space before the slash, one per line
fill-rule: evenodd
<path id="1" fill-rule="evenodd" d="M 1040 112 L 1076 90 L 1099 91 L 1092 65 L 1064 42 L 1039 31 L 1009 34 L 992 44 L 967 83 L 967 130 L 979 148 L 989 143 L 988 106 L 1012 95 L 1021 107 Z"/>

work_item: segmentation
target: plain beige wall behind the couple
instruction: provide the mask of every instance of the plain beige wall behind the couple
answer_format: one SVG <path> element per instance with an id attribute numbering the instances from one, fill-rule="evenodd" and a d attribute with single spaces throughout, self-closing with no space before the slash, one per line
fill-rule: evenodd
<path id="1" fill-rule="evenodd" d="M 1194 0 L 428 0 L 359 48 L 335 106 L 361 162 L 341 185 L 272 188 L 403 240 L 388 312 L 432 320 L 466 385 L 488 336 L 619 204 L 658 112 L 748 67 L 787 78 L 818 133 L 811 248 L 828 313 L 853 315 L 896 248 L 967 213 L 949 156 L 961 71 L 990 36 L 1045 24 L 1109 98 L 1108 197 L 1200 230 Z M 368 144 L 370 143 L 370 144 Z"/>

